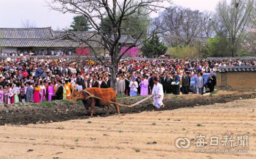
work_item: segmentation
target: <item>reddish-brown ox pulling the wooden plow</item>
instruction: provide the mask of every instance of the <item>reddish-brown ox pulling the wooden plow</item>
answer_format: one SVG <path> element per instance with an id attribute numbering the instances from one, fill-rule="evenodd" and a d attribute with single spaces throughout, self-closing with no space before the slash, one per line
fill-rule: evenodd
<path id="1" fill-rule="evenodd" d="M 107 88 L 107 89 L 102 89 L 102 88 L 86 88 L 84 89 L 85 91 L 89 92 L 90 94 L 94 95 L 95 97 L 99 97 L 101 99 L 105 99 L 106 101 L 111 101 L 111 102 L 116 102 L 116 93 L 114 91 L 113 88 Z M 110 104 L 109 102 L 100 100 L 98 98 L 94 98 L 94 97 L 89 97 L 89 94 L 86 93 L 85 91 L 81 90 L 79 91 L 78 89 L 74 89 L 73 90 L 73 97 L 77 98 L 77 97 L 81 97 L 82 102 L 86 108 L 86 112 L 91 113 L 91 116 L 93 114 L 93 108 L 94 106 L 108 106 L 108 111 L 106 113 L 106 115 L 108 115 L 109 111 L 110 111 Z M 86 99 L 87 98 L 87 99 Z M 85 100 L 86 99 L 86 100 Z M 120 114 L 119 112 L 119 107 L 117 104 L 113 103 L 116 107 L 116 111 L 118 112 L 118 114 Z M 91 106 L 91 111 L 89 111 L 89 107 Z"/>

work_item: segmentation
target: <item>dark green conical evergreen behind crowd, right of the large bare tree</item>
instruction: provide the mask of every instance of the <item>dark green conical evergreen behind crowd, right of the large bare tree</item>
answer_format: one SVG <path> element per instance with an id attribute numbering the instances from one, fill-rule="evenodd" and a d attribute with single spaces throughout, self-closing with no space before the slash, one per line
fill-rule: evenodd
<path id="1" fill-rule="evenodd" d="M 142 53 L 148 58 L 153 58 L 153 56 L 164 55 L 167 51 L 167 47 L 163 42 L 160 42 L 159 36 L 154 35 L 149 41 L 143 44 Z"/>

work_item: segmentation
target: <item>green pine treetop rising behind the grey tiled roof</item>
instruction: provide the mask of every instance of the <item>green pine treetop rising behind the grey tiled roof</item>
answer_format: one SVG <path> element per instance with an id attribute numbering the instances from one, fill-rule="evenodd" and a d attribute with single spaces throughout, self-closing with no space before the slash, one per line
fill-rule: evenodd
<path id="1" fill-rule="evenodd" d="M 92 28 L 84 15 L 76 15 L 73 17 L 73 20 L 70 25 L 73 29 L 69 29 L 69 31 L 88 31 Z"/>

